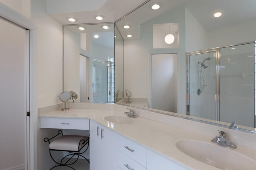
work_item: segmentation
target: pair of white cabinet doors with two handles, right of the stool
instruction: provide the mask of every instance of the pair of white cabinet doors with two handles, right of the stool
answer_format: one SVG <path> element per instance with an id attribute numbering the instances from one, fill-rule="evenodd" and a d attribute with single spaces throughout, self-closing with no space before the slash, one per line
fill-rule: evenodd
<path id="1" fill-rule="evenodd" d="M 118 134 L 92 120 L 90 170 L 118 170 Z"/>

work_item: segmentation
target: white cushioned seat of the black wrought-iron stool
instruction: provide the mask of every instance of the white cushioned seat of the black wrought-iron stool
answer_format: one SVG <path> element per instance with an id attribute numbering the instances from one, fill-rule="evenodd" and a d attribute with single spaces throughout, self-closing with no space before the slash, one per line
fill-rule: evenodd
<path id="1" fill-rule="evenodd" d="M 78 136 L 78 135 L 63 135 L 52 141 L 49 145 L 50 149 L 53 150 L 72 150 L 78 151 L 80 141 L 83 139 L 86 141 L 89 137 Z M 79 150 L 84 146 L 83 142 L 80 143 Z"/>

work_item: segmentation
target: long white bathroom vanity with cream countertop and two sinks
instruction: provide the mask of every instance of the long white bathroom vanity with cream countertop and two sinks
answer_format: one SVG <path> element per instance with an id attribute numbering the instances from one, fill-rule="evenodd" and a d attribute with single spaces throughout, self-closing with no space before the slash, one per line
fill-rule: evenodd
<path id="1" fill-rule="evenodd" d="M 196 148 L 196 145 L 206 145 L 209 148 L 216 147 L 221 152 L 219 153 L 220 158 L 222 155 L 228 157 L 232 154 L 235 156 L 242 155 L 241 158 L 244 160 L 240 161 L 239 164 L 242 164 L 244 170 L 256 167 L 256 150 L 242 146 L 239 143 L 241 141 L 238 135 L 245 134 L 245 136 L 242 135 L 242 138 L 244 138 L 247 133 L 238 132 L 235 137 L 237 141 L 233 141 L 237 143 L 237 149 L 228 149 L 211 143 L 212 137 L 218 135 L 216 129 L 221 127 L 205 125 L 208 128 L 204 128 L 204 124 L 201 123 L 200 129 L 209 130 L 209 134 L 205 135 L 197 131 L 199 128 L 197 127 L 198 122 L 168 116 L 169 119 L 173 119 L 170 122 L 176 122 L 183 125 L 183 127 L 184 123 L 190 126 L 181 128 L 175 123 L 168 125 L 159 122 L 159 117 L 161 117 L 159 114 L 156 121 L 150 120 L 154 119 L 154 115 L 150 115 L 149 111 L 145 112 L 140 109 L 134 109 L 135 115 L 138 115 L 138 117 L 127 117 L 124 115 L 124 111 L 127 111 L 126 108 L 115 104 L 112 105 L 112 108 L 104 109 L 80 108 L 68 111 L 50 111 L 40 114 L 41 128 L 90 130 L 91 170 L 217 170 L 233 168 L 231 164 L 237 164 L 238 160 L 234 157 L 234 159 L 232 158 L 234 162 L 229 162 L 232 159 L 226 159 L 228 162 L 224 165 L 210 166 L 210 163 L 214 164 L 216 162 L 203 163 L 203 158 L 200 158 L 200 156 L 192 158 L 191 155 L 188 156 L 186 151 L 179 150 L 176 145 L 177 143 L 180 145 L 183 141 L 185 141 L 185 144 L 186 142 L 190 143 L 191 147 L 189 148 L 192 149 Z M 145 113 L 148 115 L 143 116 Z M 112 115 L 111 120 L 108 119 L 109 121 L 107 121 L 106 116 L 110 115 Z M 114 119 L 114 117 L 120 117 L 122 120 L 120 118 Z M 149 119 L 149 117 L 151 118 Z M 130 122 L 127 123 L 126 119 L 129 119 Z M 162 117 L 162 119 L 165 118 Z M 121 121 L 117 122 L 118 120 Z M 228 135 L 234 131 L 221 129 L 228 131 Z M 215 130 L 216 132 L 212 133 Z M 254 136 L 250 134 L 251 140 L 255 139 Z M 233 139 L 230 137 L 230 140 Z M 207 154 L 207 147 L 202 147 L 204 150 L 199 151 L 204 156 Z M 239 157 L 240 160 L 241 158 Z M 216 166 L 219 168 L 216 168 Z"/>

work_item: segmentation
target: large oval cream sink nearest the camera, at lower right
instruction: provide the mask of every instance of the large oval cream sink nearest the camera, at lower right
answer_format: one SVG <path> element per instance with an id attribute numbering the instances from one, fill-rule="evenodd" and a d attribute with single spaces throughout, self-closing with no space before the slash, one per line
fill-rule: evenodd
<path id="1" fill-rule="evenodd" d="M 183 140 L 176 147 L 188 156 L 222 170 L 253 170 L 256 162 L 232 149 L 215 144 Z"/>

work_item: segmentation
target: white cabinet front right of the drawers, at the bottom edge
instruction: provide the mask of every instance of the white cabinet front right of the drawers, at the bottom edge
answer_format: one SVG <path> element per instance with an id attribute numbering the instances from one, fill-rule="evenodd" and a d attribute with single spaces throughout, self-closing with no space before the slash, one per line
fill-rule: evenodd
<path id="1" fill-rule="evenodd" d="M 135 170 L 135 169 L 134 169 Z M 152 150 L 147 150 L 147 170 L 186 170 Z"/>

